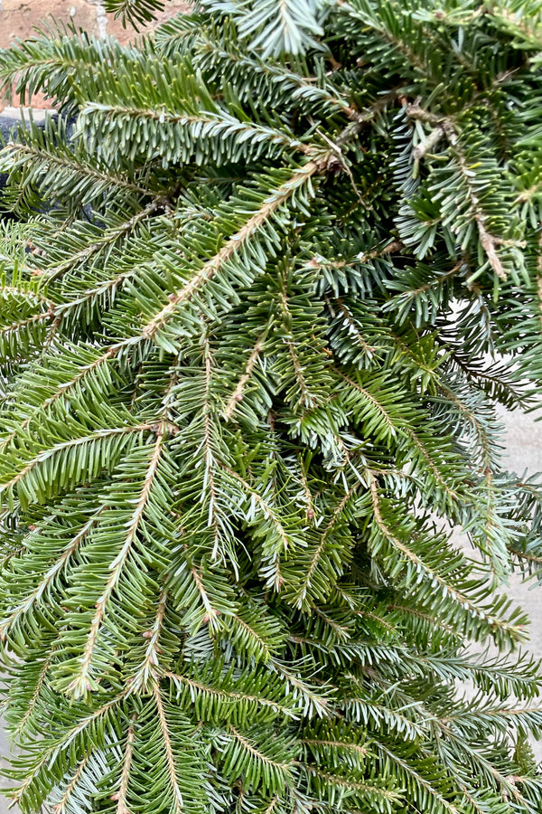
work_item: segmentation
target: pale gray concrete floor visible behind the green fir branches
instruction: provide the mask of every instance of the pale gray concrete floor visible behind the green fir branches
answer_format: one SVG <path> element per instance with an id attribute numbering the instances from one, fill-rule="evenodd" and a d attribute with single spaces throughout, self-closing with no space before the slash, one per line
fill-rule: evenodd
<path id="1" fill-rule="evenodd" d="M 536 422 L 529 416 L 519 413 L 505 413 L 502 421 L 506 426 L 507 443 L 504 461 L 507 469 L 522 475 L 525 469 L 530 474 L 542 471 L 542 421 Z M 542 586 L 529 590 L 529 584 L 513 579 L 509 595 L 527 609 L 531 619 L 529 649 L 542 659 Z M 542 761 L 542 743 L 534 744 L 537 758 Z M 5 755 L 9 752 L 5 734 L 0 730 L 0 764 L 5 765 Z M 8 788 L 9 781 L 0 781 L 0 787 Z M 19 814 L 19 809 L 9 809 L 11 814 Z M 0 814 L 7 814 L 7 801 L 0 799 Z"/>

